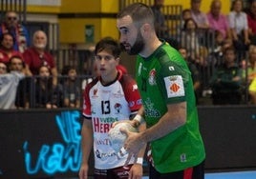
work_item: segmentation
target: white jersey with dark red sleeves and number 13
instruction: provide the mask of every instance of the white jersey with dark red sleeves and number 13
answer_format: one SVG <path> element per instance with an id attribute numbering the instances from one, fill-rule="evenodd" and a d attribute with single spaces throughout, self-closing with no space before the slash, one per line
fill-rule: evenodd
<path id="1" fill-rule="evenodd" d="M 140 107 L 135 80 L 121 71 L 118 71 L 116 80 L 111 84 L 104 86 L 100 78 L 96 78 L 86 86 L 83 116 L 93 123 L 96 169 L 114 169 L 124 165 L 126 158 L 117 158 L 108 131 L 114 122 L 129 119 Z"/>

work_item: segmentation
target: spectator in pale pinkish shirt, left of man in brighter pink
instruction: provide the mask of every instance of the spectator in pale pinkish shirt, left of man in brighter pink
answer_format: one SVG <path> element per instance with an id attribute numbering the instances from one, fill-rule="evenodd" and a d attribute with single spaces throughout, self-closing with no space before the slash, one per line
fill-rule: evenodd
<path id="1" fill-rule="evenodd" d="M 203 11 L 200 10 L 201 0 L 191 0 L 190 5 L 191 5 L 192 18 L 197 23 L 198 28 L 199 29 L 208 29 L 209 22 L 208 22 L 207 16 L 205 13 L 203 13 Z"/>

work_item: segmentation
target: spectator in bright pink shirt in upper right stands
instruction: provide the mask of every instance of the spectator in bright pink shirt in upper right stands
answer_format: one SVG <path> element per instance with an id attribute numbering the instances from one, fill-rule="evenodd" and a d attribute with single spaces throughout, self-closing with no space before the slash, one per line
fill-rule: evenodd
<path id="1" fill-rule="evenodd" d="M 213 0 L 211 2 L 210 11 L 207 13 L 209 29 L 213 31 L 220 31 L 224 38 L 231 38 L 227 18 L 224 14 L 221 13 L 221 10 L 221 0 Z"/>

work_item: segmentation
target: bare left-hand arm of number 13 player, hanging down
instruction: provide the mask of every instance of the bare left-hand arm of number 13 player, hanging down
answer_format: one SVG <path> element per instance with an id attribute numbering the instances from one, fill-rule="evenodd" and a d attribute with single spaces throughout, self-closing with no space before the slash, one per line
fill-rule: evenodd
<path id="1" fill-rule="evenodd" d="M 91 120 L 84 118 L 81 136 L 82 163 L 79 170 L 79 179 L 87 179 L 89 170 L 88 161 L 93 147 L 93 126 Z"/>

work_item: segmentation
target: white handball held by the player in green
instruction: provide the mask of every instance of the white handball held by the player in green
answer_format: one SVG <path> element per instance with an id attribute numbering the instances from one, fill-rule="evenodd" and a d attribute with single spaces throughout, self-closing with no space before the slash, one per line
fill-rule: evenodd
<path id="1" fill-rule="evenodd" d="M 138 132 L 138 129 L 134 128 L 127 122 L 120 122 L 117 125 L 109 130 L 109 138 L 112 145 L 112 148 L 117 152 L 123 147 L 124 141 L 126 140 L 126 134 L 122 133 L 120 129 L 127 129 L 128 131 Z"/>

